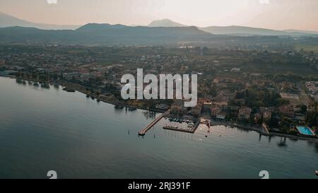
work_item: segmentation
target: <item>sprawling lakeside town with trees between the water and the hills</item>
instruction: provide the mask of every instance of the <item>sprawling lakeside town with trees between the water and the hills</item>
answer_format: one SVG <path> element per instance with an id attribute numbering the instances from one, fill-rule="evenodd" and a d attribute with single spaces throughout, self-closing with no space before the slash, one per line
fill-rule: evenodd
<path id="1" fill-rule="evenodd" d="M 196 74 L 197 105 L 184 107 L 182 100 L 172 99 L 122 99 L 121 78 L 136 76 L 136 69 L 144 74 Z M 171 122 L 191 124 L 185 131 L 193 131 L 198 120 L 206 119 L 211 124 L 265 128 L 265 133 L 317 137 L 317 74 L 318 54 L 303 49 L 0 47 L 1 76 L 43 88 L 61 85 L 117 108 L 165 112 Z"/>

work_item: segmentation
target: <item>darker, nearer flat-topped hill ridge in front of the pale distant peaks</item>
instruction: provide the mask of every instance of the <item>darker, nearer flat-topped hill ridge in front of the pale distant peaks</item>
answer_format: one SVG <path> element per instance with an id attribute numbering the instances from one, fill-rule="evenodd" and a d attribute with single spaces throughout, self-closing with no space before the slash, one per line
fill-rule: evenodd
<path id="1" fill-rule="evenodd" d="M 0 28 L 0 44 L 169 45 L 211 36 L 194 26 L 149 28 L 89 23 L 76 30 L 41 30 L 18 26 Z"/>

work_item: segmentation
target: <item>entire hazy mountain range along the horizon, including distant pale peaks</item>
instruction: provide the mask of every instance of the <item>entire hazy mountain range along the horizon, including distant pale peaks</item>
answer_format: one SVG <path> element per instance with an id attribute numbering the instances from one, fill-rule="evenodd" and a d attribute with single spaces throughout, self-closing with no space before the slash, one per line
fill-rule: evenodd
<path id="1" fill-rule="evenodd" d="M 88 23 L 49 25 L 23 21 L 0 14 L 0 44 L 66 44 L 66 45 L 175 45 L 184 42 L 240 41 L 275 39 L 278 36 L 318 37 L 317 32 L 269 30 L 242 26 L 198 28 L 169 19 L 153 21 L 148 26 Z M 247 37 L 248 36 L 248 37 Z M 259 39 L 261 38 L 261 39 Z M 277 40 L 276 40 L 277 41 Z"/>

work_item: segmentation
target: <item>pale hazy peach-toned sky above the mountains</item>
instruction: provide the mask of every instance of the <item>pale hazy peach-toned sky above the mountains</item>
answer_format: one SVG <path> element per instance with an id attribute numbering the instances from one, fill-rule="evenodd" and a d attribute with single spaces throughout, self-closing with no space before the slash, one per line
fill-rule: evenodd
<path id="1" fill-rule="evenodd" d="M 47 1 L 57 1 L 48 4 Z M 247 25 L 318 30 L 318 0 L 1 0 L 0 11 L 35 23 Z"/>

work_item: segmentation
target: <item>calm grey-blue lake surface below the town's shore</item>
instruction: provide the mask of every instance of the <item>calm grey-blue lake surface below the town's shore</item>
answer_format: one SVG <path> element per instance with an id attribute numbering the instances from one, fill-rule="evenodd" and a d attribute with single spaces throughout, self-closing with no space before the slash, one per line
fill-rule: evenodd
<path id="1" fill-rule="evenodd" d="M 158 116 L 159 114 L 155 115 Z M 318 144 L 206 127 L 162 129 L 146 111 L 115 110 L 82 93 L 0 78 L 0 178 L 317 178 Z"/>

